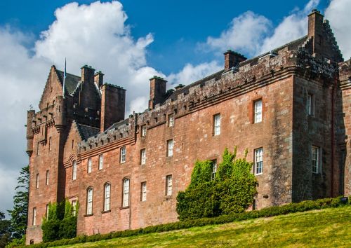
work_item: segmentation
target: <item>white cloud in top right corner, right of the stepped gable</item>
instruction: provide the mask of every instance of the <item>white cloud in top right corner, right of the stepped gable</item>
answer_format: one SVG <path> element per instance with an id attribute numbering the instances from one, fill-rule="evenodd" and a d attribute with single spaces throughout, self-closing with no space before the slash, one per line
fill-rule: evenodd
<path id="1" fill-rule="evenodd" d="M 334 36 L 345 60 L 351 57 L 351 0 L 332 0 L 325 11 Z"/>

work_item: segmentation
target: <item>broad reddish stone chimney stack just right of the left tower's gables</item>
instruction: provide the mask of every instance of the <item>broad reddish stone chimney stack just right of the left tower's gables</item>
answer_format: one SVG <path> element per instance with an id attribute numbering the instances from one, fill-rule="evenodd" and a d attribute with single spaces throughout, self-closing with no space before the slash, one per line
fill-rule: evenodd
<path id="1" fill-rule="evenodd" d="M 100 131 L 104 132 L 113 123 L 124 120 L 126 90 L 116 85 L 101 85 Z"/>

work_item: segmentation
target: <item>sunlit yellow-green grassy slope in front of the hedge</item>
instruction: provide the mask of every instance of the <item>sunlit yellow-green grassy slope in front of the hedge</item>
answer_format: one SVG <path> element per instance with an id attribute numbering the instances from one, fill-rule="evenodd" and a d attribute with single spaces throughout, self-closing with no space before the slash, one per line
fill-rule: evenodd
<path id="1" fill-rule="evenodd" d="M 351 206 L 67 247 L 351 247 Z"/>

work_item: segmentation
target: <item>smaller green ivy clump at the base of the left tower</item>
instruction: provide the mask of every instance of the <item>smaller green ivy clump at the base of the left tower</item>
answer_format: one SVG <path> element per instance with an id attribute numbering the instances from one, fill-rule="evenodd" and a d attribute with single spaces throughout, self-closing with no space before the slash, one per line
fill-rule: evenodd
<path id="1" fill-rule="evenodd" d="M 43 241 L 67 239 L 77 236 L 77 212 L 73 215 L 73 207 L 69 200 L 54 202 L 48 205 L 48 216 L 43 219 Z"/>

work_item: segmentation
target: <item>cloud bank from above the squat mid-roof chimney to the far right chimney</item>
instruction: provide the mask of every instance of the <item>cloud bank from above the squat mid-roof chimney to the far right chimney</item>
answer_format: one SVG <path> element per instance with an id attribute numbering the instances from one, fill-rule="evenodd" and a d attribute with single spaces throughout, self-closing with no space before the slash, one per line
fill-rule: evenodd
<path id="1" fill-rule="evenodd" d="M 219 52 L 234 49 L 247 56 L 265 53 L 307 34 L 307 14 L 318 4 L 319 0 L 310 0 L 302 10 L 295 8 L 274 28 L 265 16 L 247 11 L 234 18 L 218 38 L 210 36 L 200 47 Z"/>

